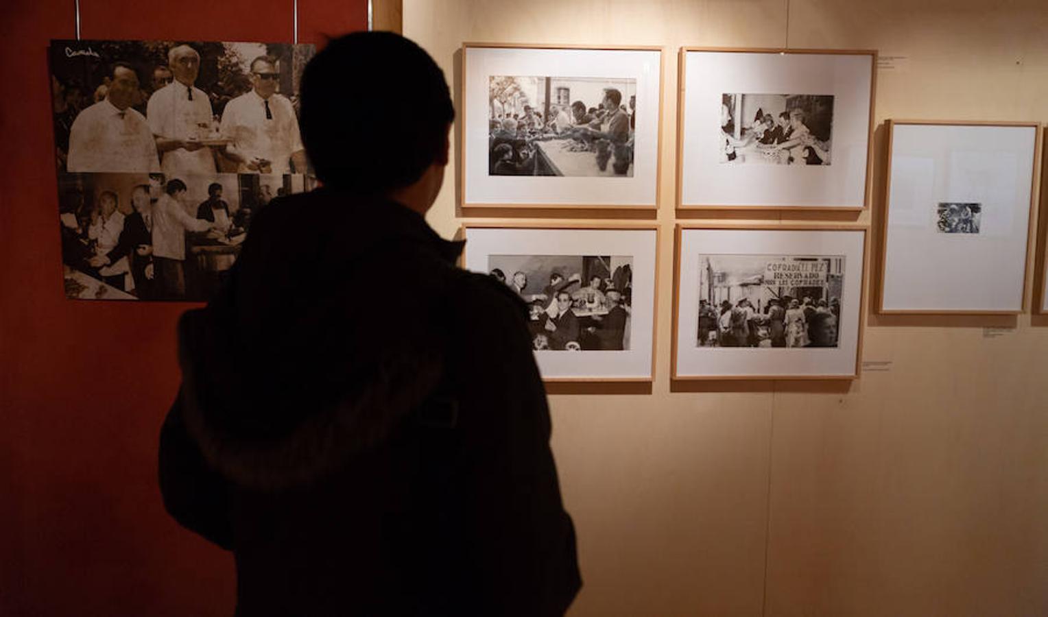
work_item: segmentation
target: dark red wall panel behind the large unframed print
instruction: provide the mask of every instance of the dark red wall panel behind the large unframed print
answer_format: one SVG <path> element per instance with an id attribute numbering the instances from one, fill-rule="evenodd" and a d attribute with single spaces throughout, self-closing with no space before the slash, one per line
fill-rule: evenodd
<path id="1" fill-rule="evenodd" d="M 292 2 L 81 0 L 85 39 L 292 40 Z M 366 0 L 306 0 L 300 42 L 364 29 Z M 47 45 L 72 0 L 0 8 L 0 615 L 230 615 L 228 553 L 156 483 L 189 305 L 64 298 Z"/>

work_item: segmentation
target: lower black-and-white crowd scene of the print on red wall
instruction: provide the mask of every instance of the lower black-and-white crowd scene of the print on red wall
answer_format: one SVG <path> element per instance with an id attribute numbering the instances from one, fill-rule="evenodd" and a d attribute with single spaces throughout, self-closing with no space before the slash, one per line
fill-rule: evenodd
<path id="1" fill-rule="evenodd" d="M 240 255 L 252 218 L 302 176 L 60 174 L 66 298 L 211 299 Z"/>

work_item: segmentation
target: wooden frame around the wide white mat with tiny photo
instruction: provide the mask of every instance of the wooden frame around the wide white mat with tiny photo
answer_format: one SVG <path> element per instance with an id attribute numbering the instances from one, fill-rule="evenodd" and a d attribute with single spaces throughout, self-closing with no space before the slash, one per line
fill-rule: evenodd
<path id="1" fill-rule="evenodd" d="M 1018 310 L 949 310 L 949 309 L 886 309 L 885 308 L 885 282 L 887 279 L 886 266 L 888 265 L 888 228 L 891 216 L 891 192 L 892 192 L 892 154 L 895 140 L 896 125 L 926 125 L 926 126 L 949 126 L 949 127 L 1030 127 L 1035 131 L 1033 138 L 1033 173 L 1032 185 L 1030 186 L 1029 218 L 1026 229 L 1026 252 L 1029 255 L 1029 246 L 1034 229 L 1034 211 L 1036 200 L 1038 174 L 1036 166 L 1041 156 L 1041 126 L 1030 122 L 992 122 L 992 120 L 915 120 L 915 119 L 891 119 L 885 122 L 888 131 L 888 147 L 885 149 L 885 206 L 880 217 L 880 264 L 879 282 L 877 287 L 877 313 L 881 315 L 1018 315 L 1026 310 L 1029 294 L 1027 293 L 1027 282 L 1029 272 L 1028 259 L 1023 261 L 1023 291 L 1022 303 Z"/>

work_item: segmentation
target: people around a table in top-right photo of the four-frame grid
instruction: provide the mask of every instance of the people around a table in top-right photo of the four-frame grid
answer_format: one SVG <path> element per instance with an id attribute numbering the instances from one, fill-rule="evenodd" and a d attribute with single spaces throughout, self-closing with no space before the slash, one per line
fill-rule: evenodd
<path id="1" fill-rule="evenodd" d="M 805 112 L 793 108 L 779 114 L 758 111 L 748 127 L 735 136 L 735 119 L 721 105 L 721 162 L 743 162 L 746 149 L 762 160 L 780 164 L 830 164 L 829 145 L 820 141 L 805 125 Z"/>

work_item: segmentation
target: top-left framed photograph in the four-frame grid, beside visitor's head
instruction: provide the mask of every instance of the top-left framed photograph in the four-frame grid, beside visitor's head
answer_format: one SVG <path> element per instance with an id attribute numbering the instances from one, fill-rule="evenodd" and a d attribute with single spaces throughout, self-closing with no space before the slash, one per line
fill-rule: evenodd
<path id="1" fill-rule="evenodd" d="M 662 50 L 466 43 L 463 207 L 653 208 Z"/>

